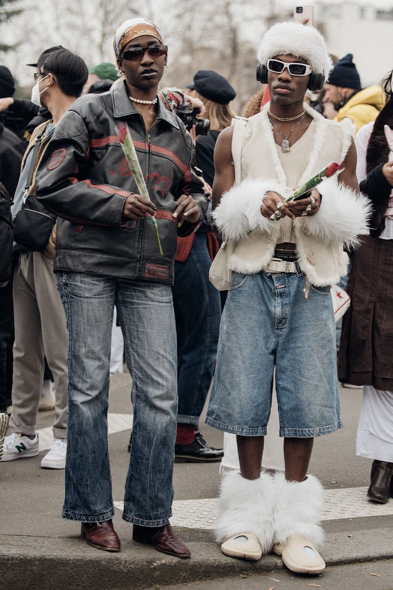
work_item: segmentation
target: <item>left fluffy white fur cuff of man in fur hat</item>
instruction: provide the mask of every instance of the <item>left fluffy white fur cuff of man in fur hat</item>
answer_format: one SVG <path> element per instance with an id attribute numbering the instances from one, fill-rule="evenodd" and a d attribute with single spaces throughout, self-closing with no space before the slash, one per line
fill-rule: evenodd
<path id="1" fill-rule="evenodd" d="M 224 192 L 220 204 L 212 213 L 224 240 L 243 240 L 257 227 L 263 232 L 272 231 L 275 222 L 260 213 L 267 191 L 276 191 L 283 199 L 290 195 L 288 187 L 275 180 L 246 179 Z"/>

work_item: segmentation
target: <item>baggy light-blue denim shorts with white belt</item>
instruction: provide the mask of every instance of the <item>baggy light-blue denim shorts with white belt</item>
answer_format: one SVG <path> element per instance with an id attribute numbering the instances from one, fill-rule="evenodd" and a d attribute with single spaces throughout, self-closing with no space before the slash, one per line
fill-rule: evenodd
<path id="1" fill-rule="evenodd" d="M 342 428 L 330 287 L 296 273 L 232 273 L 206 424 L 264 436 L 275 374 L 280 436 Z"/>

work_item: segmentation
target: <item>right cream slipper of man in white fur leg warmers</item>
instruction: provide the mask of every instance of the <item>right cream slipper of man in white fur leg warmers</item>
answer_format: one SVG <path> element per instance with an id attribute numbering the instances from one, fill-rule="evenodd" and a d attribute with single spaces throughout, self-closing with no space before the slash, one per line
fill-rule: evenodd
<path id="1" fill-rule="evenodd" d="M 273 553 L 280 555 L 283 563 L 295 573 L 321 573 L 326 565 L 313 544 L 299 535 L 290 537 L 285 545 L 273 546 Z"/>

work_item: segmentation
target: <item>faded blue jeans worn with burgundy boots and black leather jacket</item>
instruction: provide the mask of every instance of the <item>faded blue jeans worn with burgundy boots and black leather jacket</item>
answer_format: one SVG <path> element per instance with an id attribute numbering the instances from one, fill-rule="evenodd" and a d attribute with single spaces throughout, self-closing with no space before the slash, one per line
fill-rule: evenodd
<path id="1" fill-rule="evenodd" d="M 114 516 L 108 459 L 108 391 L 113 309 L 133 378 L 133 440 L 123 519 L 161 526 L 171 516 L 176 437 L 176 330 L 170 285 L 58 273 L 67 314 L 68 446 L 64 518 Z"/>

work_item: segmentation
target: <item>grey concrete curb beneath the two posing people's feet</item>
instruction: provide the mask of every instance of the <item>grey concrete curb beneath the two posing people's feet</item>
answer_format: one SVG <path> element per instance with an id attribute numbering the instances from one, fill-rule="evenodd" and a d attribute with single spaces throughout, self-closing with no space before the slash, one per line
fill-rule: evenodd
<path id="1" fill-rule="evenodd" d="M 191 559 L 165 556 L 131 540 L 122 542 L 120 553 L 107 553 L 88 547 L 80 537 L 0 536 L 1 588 L 143 590 L 284 567 L 273 555 L 258 562 L 228 558 L 220 553 L 211 531 L 177 532 L 191 549 Z M 393 530 L 359 530 L 352 537 L 328 533 L 322 553 L 328 566 L 391 559 Z"/>

